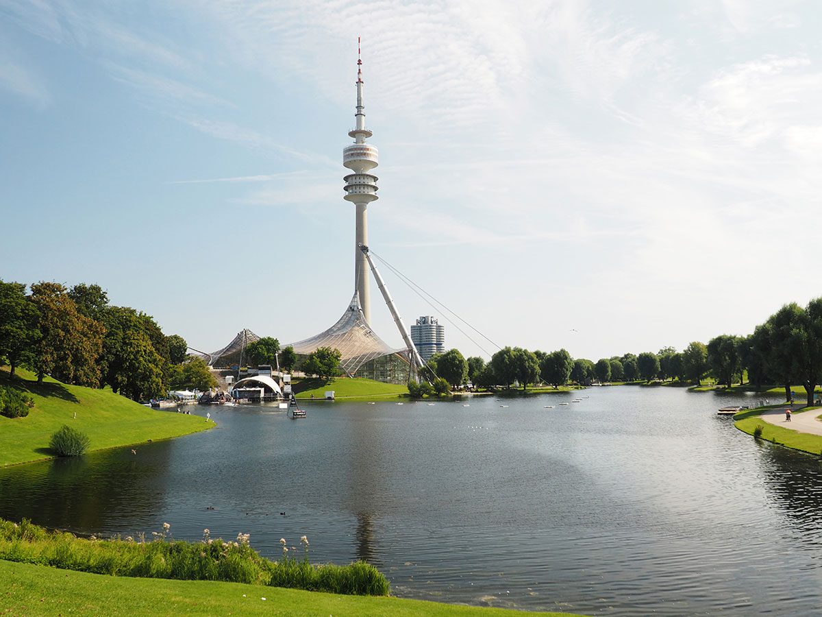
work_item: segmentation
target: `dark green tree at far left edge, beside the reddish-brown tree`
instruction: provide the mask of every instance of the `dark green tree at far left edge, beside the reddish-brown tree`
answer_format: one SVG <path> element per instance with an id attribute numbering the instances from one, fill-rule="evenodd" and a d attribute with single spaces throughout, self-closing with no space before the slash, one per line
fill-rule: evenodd
<path id="1" fill-rule="evenodd" d="M 31 360 L 31 350 L 39 340 L 39 313 L 25 295 L 23 283 L 0 281 L 0 356 L 5 356 L 14 377 L 17 365 Z"/>

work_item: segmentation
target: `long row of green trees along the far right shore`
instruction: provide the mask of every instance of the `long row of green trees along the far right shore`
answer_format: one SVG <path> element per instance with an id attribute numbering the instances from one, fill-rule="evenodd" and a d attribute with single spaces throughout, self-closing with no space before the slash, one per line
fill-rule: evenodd
<path id="1" fill-rule="evenodd" d="M 747 375 L 756 390 L 766 384 L 784 387 L 786 401 L 792 398 L 792 387 L 801 385 L 807 404 L 812 405 L 815 387 L 822 383 L 822 298 L 811 300 L 805 308 L 785 304 L 749 336 L 723 334 L 707 345 L 693 341 L 682 351 L 663 347 L 656 353 L 626 353 L 594 363 L 573 359 L 564 349 L 546 353 L 505 347 L 486 364 L 480 357 L 465 359 L 452 349 L 433 355 L 423 374 L 455 388 L 470 382 L 480 388 L 519 383 L 523 389 L 532 383 L 558 388 L 568 383 L 650 383 L 656 379 L 700 385 L 705 377 L 732 387 L 743 384 Z"/>

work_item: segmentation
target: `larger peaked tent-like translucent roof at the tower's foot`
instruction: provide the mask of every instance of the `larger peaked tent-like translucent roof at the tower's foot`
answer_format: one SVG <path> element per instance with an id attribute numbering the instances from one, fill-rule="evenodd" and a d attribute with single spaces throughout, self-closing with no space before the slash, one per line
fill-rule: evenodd
<path id="1" fill-rule="evenodd" d="M 363 364 L 383 355 L 404 353 L 404 348 L 395 349 L 383 341 L 371 329 L 363 316 L 359 295 L 355 292 L 349 308 L 337 322 L 316 336 L 292 343 L 298 354 L 310 354 L 320 347 L 338 349 L 342 357 L 339 368 L 353 375 Z"/>

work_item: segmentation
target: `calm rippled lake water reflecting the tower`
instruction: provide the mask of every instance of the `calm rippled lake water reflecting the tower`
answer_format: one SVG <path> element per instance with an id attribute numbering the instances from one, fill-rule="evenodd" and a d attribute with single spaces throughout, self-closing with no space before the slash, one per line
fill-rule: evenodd
<path id="1" fill-rule="evenodd" d="M 581 396 L 580 403 L 560 406 Z M 822 615 L 822 465 L 715 413 L 603 387 L 209 409 L 218 429 L 0 471 L 0 516 L 367 559 L 397 596 L 589 615 Z M 507 407 L 501 407 L 507 405 Z M 545 406 L 553 405 L 554 408 Z M 197 413 L 205 409 L 192 407 Z M 206 509 L 213 507 L 215 509 Z M 281 514 L 281 513 L 284 513 Z"/>

